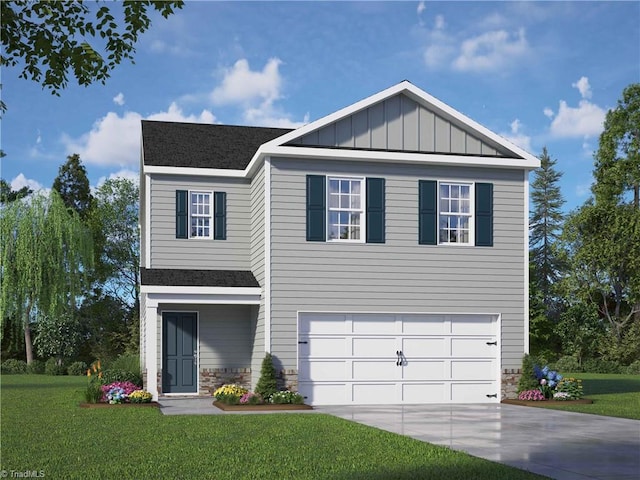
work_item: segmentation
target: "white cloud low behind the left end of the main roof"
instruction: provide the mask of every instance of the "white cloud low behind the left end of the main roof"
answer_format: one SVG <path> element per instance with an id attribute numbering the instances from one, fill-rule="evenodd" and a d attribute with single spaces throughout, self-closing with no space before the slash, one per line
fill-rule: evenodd
<path id="1" fill-rule="evenodd" d="M 90 132 L 79 138 L 65 135 L 62 142 L 67 153 L 78 153 L 83 162 L 96 165 L 116 165 L 127 167 L 137 165 L 140 156 L 140 121 L 137 112 L 125 112 L 120 116 L 109 112 L 94 123 Z M 171 122 L 214 123 L 215 117 L 209 110 L 200 115 L 184 115 L 176 103 L 165 112 L 146 117 L 148 120 Z"/>

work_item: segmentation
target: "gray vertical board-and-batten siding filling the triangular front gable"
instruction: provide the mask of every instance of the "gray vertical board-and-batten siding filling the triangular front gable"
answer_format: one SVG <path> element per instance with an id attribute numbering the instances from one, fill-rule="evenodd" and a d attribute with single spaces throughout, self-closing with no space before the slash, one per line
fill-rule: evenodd
<path id="1" fill-rule="evenodd" d="M 375 150 L 510 156 L 453 119 L 398 94 L 290 142 Z"/>

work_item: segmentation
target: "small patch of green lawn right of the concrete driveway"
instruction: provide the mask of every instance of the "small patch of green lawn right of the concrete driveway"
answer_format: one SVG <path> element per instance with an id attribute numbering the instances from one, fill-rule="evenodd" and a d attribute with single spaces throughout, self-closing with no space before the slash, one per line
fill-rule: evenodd
<path id="1" fill-rule="evenodd" d="M 564 376 L 582 380 L 584 396 L 593 400 L 593 404 L 556 404 L 543 408 L 640 420 L 640 375 L 567 373 Z M 541 402 L 541 406 L 543 404 Z"/>

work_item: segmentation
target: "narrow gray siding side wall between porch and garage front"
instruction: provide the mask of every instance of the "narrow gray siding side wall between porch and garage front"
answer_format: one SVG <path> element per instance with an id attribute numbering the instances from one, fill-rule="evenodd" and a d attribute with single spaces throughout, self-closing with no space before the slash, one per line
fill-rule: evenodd
<path id="1" fill-rule="evenodd" d="M 262 290 L 260 305 L 254 316 L 255 325 L 252 327 L 252 382 L 255 385 L 264 358 L 264 308 L 265 308 L 265 164 L 251 179 L 251 271 L 256 277 Z"/>

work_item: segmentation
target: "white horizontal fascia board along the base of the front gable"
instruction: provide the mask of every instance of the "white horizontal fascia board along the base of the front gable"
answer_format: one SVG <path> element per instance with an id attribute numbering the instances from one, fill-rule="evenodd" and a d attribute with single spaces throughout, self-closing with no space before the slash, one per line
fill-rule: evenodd
<path id="1" fill-rule="evenodd" d="M 442 155 L 430 153 L 406 153 L 374 150 L 343 150 L 339 148 L 274 146 L 263 151 L 272 157 L 315 158 L 323 160 L 354 160 L 365 162 L 413 163 L 427 165 L 458 165 L 466 167 L 500 167 L 530 170 L 539 161 L 521 158 L 480 157 L 469 155 Z M 535 157 L 533 157 L 535 159 Z"/>

